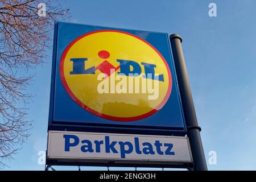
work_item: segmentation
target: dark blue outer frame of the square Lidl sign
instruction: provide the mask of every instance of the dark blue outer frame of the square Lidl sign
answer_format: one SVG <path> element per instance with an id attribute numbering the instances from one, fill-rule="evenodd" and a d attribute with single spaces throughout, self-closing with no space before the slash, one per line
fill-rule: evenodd
<path id="1" fill-rule="evenodd" d="M 177 86 L 176 70 L 174 65 L 174 59 L 172 57 L 171 43 L 168 40 L 168 50 L 171 55 L 171 69 L 174 71 L 174 76 L 172 77 L 172 84 L 176 85 L 176 92 L 178 93 L 179 106 L 181 111 L 181 117 L 183 119 L 183 128 L 172 128 L 172 127 L 151 127 L 151 126 L 130 126 L 130 125 L 117 125 L 117 124 L 98 124 L 98 123 L 86 123 L 82 125 L 81 123 L 67 123 L 67 122 L 55 122 L 53 119 L 53 109 L 54 109 L 54 95 L 55 95 L 55 76 L 56 76 L 56 54 L 57 54 L 57 33 L 59 28 L 59 23 L 55 23 L 54 28 L 54 41 L 53 41 L 53 55 L 52 55 L 52 76 L 51 76 L 51 93 L 50 93 L 50 104 L 49 104 L 49 119 L 48 119 L 48 131 L 49 130 L 60 130 L 60 131 L 86 131 L 86 132 L 104 132 L 104 133 L 128 133 L 128 134 L 150 134 L 150 135 L 176 135 L 184 136 L 187 133 L 187 127 L 185 125 L 183 107 L 181 104 L 181 98 L 179 94 L 179 88 Z M 109 28 L 109 27 L 104 27 Z M 112 28 L 114 30 L 114 28 Z M 120 29 L 120 28 L 118 28 Z M 126 29 L 123 29 L 126 30 Z M 167 34 L 168 37 L 168 34 Z M 172 88 L 174 89 L 174 88 Z"/>

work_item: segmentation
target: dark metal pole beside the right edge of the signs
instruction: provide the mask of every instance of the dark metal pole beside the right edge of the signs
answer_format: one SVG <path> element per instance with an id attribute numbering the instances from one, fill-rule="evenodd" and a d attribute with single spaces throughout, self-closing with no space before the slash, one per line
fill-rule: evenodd
<path id="1" fill-rule="evenodd" d="M 207 171 L 207 163 L 205 161 L 203 144 L 201 142 L 201 128 L 197 123 L 195 106 L 189 86 L 187 68 L 181 47 L 182 39 L 177 34 L 170 36 L 172 53 L 174 55 L 174 63 L 177 74 L 177 81 L 180 89 L 180 97 L 183 105 L 185 122 L 187 125 L 187 136 L 191 145 L 192 156 L 194 160 L 195 171 Z"/>

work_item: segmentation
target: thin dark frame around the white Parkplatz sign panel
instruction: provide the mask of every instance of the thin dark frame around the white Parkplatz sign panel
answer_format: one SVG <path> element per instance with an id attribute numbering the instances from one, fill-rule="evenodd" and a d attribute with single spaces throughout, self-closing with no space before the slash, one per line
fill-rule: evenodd
<path id="1" fill-rule="evenodd" d="M 83 132 L 72 132 L 72 131 L 49 131 L 48 132 L 48 142 L 47 142 L 47 158 L 46 164 L 55 165 L 55 166 L 115 166 L 115 167 L 129 167 L 129 166 L 137 166 L 137 167 L 191 167 L 193 164 L 193 157 L 191 152 L 191 146 L 189 144 L 188 137 L 177 137 L 177 136 L 166 136 L 166 135 L 134 135 L 134 134 L 115 134 L 115 133 L 101 133 L 100 135 L 112 135 L 112 137 L 141 137 L 141 138 L 151 138 L 151 139 L 171 139 L 172 142 L 174 140 L 185 139 L 187 141 L 187 150 L 190 156 L 190 160 L 167 160 L 167 159 L 114 159 L 114 158 L 98 158 L 98 159 L 90 159 L 90 158 L 79 158 L 77 156 L 73 157 L 61 157 L 61 156 L 49 156 L 49 152 L 51 152 L 51 141 L 54 134 L 77 134 L 77 135 L 96 135 L 98 133 L 83 133 Z M 94 138 L 95 139 L 95 138 Z M 184 142 L 184 140 L 183 140 Z M 59 142 L 57 142 L 59 144 Z M 177 141 L 176 141 L 177 144 Z M 184 143 L 183 143 L 184 145 Z M 56 144 L 54 144 L 56 146 Z M 176 146 L 176 145 L 175 145 Z M 135 149 L 134 149 L 135 150 Z M 178 148 L 175 149 L 175 152 Z M 180 150 L 180 149 L 179 149 Z M 56 151 L 54 151 L 56 153 Z M 149 155 L 150 156 L 150 155 Z M 150 158 L 150 157 L 149 157 Z"/>

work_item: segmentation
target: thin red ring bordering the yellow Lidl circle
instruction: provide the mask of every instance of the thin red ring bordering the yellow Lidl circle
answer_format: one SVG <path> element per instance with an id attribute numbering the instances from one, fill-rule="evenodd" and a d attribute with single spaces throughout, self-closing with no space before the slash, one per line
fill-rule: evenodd
<path id="1" fill-rule="evenodd" d="M 64 77 L 64 60 L 65 60 L 65 57 L 67 55 L 67 52 L 69 51 L 69 49 L 73 46 L 73 44 L 75 44 L 78 40 L 80 40 L 81 38 L 84 38 L 85 36 L 88 36 L 88 35 L 91 35 L 91 34 L 96 34 L 98 32 L 118 32 L 118 33 L 121 33 L 121 34 L 126 34 L 126 35 L 130 35 L 130 36 L 133 36 L 134 38 L 137 38 L 139 40 L 142 40 L 144 43 L 146 43 L 148 46 L 150 46 L 152 49 L 155 50 L 156 53 L 158 53 L 158 55 L 161 57 L 161 59 L 164 61 L 164 64 L 166 65 L 166 68 L 167 68 L 167 71 L 168 71 L 168 76 L 169 76 L 169 85 L 168 85 L 168 90 L 167 90 L 167 93 L 166 93 L 166 96 L 164 97 L 164 99 L 162 100 L 162 102 L 160 102 L 160 104 L 158 106 L 155 107 L 155 109 L 152 109 L 151 111 L 149 111 L 148 113 L 145 113 L 145 114 L 142 114 L 142 115 L 138 115 L 138 116 L 135 116 L 135 117 L 114 117 L 114 116 L 111 116 L 111 115 L 106 115 L 106 114 L 102 114 L 102 113 L 99 113 L 98 111 L 96 110 L 93 110 L 91 109 L 90 107 L 86 106 L 84 103 L 82 103 L 76 96 L 75 94 L 73 94 L 73 92 L 71 91 L 71 89 L 69 89 L 69 86 L 67 84 L 67 81 L 65 80 L 65 77 Z M 60 66 L 59 66 L 59 72 L 60 72 L 60 79 L 61 79 L 61 82 L 65 88 L 65 90 L 68 92 L 69 96 L 71 96 L 71 98 L 73 99 L 73 101 L 75 101 L 78 105 L 80 105 L 83 109 L 85 109 L 86 111 L 89 111 L 89 113 L 92 113 L 98 117 L 101 117 L 101 118 L 105 118 L 105 119 L 109 119 L 109 120 L 112 120 L 112 121 L 136 121 L 136 120 L 139 120 L 139 119 L 144 119 L 144 118 L 147 118 L 149 117 L 150 115 L 156 113 L 156 111 L 160 110 L 164 104 L 166 104 L 168 98 L 170 97 L 170 94 L 171 94 L 171 89 L 172 89 L 172 76 L 171 76 L 171 71 L 170 71 L 170 68 L 166 62 L 166 60 L 164 59 L 164 57 L 161 55 L 161 53 L 154 47 L 152 46 L 150 43 L 146 42 L 146 40 L 143 40 L 142 38 L 139 38 L 138 36 L 136 35 L 133 35 L 133 34 L 130 34 L 128 32 L 123 32 L 123 31 L 119 31 L 119 30 L 97 30 L 97 31 L 92 31 L 92 32 L 88 32 L 84 35 L 81 35 L 79 36 L 78 38 L 76 38 L 75 40 L 73 40 L 70 44 L 68 44 L 68 46 L 65 48 L 62 56 L 61 56 L 61 59 L 60 59 Z"/>

